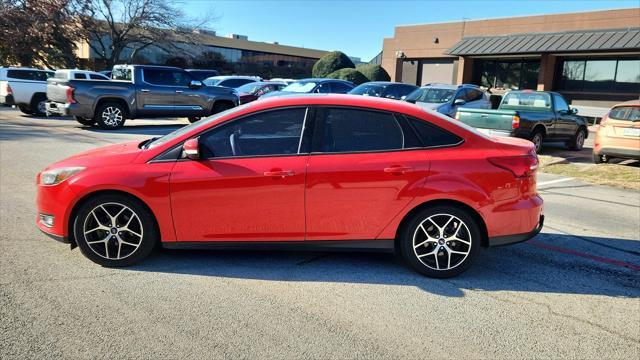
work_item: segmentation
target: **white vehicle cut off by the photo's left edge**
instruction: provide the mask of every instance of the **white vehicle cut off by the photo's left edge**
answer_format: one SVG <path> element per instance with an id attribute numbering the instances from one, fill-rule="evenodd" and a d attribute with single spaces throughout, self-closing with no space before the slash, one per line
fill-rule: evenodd
<path id="1" fill-rule="evenodd" d="M 47 102 L 47 79 L 53 71 L 0 67 L 0 103 L 16 105 L 29 115 L 44 116 Z"/>

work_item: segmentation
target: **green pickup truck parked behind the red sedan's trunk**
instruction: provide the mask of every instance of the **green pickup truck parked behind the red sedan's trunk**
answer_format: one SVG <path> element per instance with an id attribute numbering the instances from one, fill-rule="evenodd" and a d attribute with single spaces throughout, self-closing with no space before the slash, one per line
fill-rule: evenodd
<path id="1" fill-rule="evenodd" d="M 507 93 L 497 110 L 464 107 L 455 118 L 491 135 L 531 140 L 539 153 L 544 141 L 563 141 L 571 150 L 582 150 L 589 131 L 577 112 L 558 93 L 523 90 Z"/>

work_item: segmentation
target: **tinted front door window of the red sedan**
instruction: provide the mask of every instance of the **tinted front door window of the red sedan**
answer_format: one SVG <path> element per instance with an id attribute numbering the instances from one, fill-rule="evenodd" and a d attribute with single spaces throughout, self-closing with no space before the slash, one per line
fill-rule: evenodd
<path id="1" fill-rule="evenodd" d="M 222 125 L 200 137 L 203 157 L 298 153 L 306 108 L 263 112 Z"/>

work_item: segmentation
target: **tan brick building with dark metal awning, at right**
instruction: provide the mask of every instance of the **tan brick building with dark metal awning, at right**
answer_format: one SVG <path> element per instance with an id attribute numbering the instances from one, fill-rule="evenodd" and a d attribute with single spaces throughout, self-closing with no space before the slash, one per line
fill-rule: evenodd
<path id="1" fill-rule="evenodd" d="M 596 116 L 639 97 L 640 8 L 397 26 L 382 54 L 395 81 L 554 90 Z"/>

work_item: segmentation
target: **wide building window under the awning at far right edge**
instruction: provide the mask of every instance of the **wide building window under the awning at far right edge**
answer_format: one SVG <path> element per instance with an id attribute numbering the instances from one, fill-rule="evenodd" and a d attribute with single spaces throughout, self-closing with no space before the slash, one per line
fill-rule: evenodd
<path id="1" fill-rule="evenodd" d="M 559 90 L 584 92 L 640 92 L 640 60 L 565 60 Z"/>

